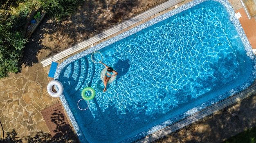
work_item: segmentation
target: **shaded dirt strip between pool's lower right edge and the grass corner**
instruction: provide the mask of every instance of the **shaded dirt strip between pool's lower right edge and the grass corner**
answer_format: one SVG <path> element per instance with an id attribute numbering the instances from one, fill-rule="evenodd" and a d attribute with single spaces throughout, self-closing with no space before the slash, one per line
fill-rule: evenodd
<path id="1" fill-rule="evenodd" d="M 222 143 L 256 126 L 256 96 L 251 96 L 152 143 Z"/>

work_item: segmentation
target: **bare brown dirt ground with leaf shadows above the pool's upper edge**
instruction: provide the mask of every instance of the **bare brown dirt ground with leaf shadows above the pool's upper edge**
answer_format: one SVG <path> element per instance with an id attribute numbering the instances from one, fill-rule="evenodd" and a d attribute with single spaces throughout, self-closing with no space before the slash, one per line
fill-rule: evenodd
<path id="1" fill-rule="evenodd" d="M 165 0 L 86 0 L 58 21 L 47 15 L 26 44 L 24 63 L 32 66 Z"/>

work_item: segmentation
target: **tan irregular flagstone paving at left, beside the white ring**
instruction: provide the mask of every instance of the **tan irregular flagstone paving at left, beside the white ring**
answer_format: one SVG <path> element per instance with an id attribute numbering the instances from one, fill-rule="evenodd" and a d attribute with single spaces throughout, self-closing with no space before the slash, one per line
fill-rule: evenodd
<path id="1" fill-rule="evenodd" d="M 22 67 L 20 73 L 0 79 L 0 121 L 4 133 L 15 130 L 20 136 L 34 136 L 36 132 L 49 132 L 41 110 L 58 103 L 47 93 L 49 81 L 41 64 Z"/>

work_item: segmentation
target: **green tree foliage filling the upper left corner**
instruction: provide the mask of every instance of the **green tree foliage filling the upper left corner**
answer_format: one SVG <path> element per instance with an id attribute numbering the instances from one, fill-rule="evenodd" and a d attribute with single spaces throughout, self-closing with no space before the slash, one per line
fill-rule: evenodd
<path id="1" fill-rule="evenodd" d="M 21 70 L 27 40 L 21 34 L 32 10 L 43 8 L 61 19 L 71 15 L 84 0 L 0 0 L 0 78 Z M 33 47 L 31 47 L 33 48 Z"/>

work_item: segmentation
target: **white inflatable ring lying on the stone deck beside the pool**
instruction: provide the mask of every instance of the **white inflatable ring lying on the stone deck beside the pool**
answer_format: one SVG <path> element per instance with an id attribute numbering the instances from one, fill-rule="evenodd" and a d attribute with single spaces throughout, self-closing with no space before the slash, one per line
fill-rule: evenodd
<path id="1" fill-rule="evenodd" d="M 55 85 L 58 86 L 58 92 L 54 92 L 52 90 L 52 86 L 55 86 Z M 63 93 L 63 85 L 61 84 L 60 81 L 57 81 L 57 80 L 50 81 L 49 84 L 47 85 L 47 92 L 52 97 L 59 97 Z"/>

